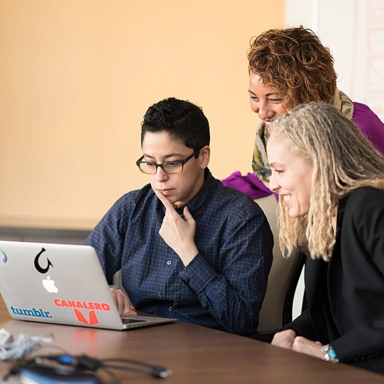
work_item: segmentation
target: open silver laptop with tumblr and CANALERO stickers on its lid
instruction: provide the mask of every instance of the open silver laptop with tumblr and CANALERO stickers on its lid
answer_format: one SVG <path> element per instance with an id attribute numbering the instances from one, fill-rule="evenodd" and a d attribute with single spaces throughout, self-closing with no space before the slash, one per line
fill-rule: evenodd
<path id="1" fill-rule="evenodd" d="M 96 251 L 87 245 L 0 241 L 0 293 L 18 320 L 108 329 L 177 321 L 120 316 Z"/>

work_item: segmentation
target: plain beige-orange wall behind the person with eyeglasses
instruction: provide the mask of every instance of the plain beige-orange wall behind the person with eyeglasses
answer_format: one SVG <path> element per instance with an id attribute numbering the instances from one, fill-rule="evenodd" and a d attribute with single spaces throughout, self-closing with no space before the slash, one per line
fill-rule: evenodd
<path id="1" fill-rule="evenodd" d="M 251 171 L 251 36 L 284 0 L 0 0 L 0 225 L 91 228 L 147 176 L 140 122 L 203 107 L 217 178 Z"/>

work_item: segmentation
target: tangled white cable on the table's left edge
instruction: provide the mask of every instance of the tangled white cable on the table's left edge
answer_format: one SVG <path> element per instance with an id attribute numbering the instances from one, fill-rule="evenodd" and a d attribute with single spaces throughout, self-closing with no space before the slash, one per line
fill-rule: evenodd
<path id="1" fill-rule="evenodd" d="M 52 342 L 53 335 L 28 336 L 20 333 L 16 341 L 12 341 L 12 335 L 4 328 L 0 329 L 0 360 L 27 356 L 42 342 Z"/>

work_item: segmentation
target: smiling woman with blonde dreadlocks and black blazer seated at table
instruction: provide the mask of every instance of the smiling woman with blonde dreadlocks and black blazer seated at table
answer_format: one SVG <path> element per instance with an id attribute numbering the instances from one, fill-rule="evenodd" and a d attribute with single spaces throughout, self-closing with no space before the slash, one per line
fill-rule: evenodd
<path id="1" fill-rule="evenodd" d="M 384 156 L 324 103 L 277 118 L 266 151 L 282 252 L 310 251 L 308 309 L 272 344 L 384 373 Z"/>

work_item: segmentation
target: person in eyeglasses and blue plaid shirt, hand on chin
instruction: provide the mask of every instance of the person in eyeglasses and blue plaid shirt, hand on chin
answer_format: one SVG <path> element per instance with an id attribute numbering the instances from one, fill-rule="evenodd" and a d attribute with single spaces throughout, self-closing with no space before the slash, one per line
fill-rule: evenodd
<path id="1" fill-rule="evenodd" d="M 150 106 L 136 161 L 149 184 L 119 198 L 85 244 L 107 279 L 121 269 L 127 295 L 111 289 L 120 314 L 243 334 L 257 328 L 273 236 L 261 208 L 210 173 L 209 139 L 197 105 L 171 97 Z"/>

